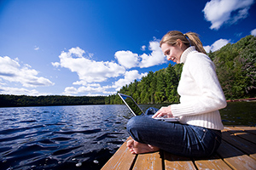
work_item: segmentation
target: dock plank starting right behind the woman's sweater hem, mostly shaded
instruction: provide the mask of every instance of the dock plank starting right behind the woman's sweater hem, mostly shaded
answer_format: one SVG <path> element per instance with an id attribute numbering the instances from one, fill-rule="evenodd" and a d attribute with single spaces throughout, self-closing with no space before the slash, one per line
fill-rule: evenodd
<path id="1" fill-rule="evenodd" d="M 249 142 L 256 144 L 256 134 L 247 133 L 247 131 L 239 128 L 239 127 L 225 127 L 225 130 L 228 130 L 229 133 L 235 134 L 239 138 L 246 139 Z"/>

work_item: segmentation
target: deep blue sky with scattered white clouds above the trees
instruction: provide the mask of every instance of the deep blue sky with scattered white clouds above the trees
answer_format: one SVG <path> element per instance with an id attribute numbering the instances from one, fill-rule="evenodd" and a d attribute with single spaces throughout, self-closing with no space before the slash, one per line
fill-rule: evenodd
<path id="1" fill-rule="evenodd" d="M 166 68 L 167 31 L 195 31 L 216 51 L 256 36 L 255 9 L 255 0 L 2 0 L 0 94 L 115 94 Z"/>

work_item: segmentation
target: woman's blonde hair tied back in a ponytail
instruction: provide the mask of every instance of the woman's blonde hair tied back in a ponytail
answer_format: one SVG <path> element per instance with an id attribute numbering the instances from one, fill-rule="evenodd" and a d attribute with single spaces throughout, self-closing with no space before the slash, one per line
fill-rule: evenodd
<path id="1" fill-rule="evenodd" d="M 183 34 L 181 31 L 169 31 L 164 37 L 162 37 L 160 47 L 163 43 L 168 43 L 173 46 L 177 43 L 177 39 L 180 39 L 187 48 L 189 48 L 189 46 L 195 46 L 195 49 L 198 52 L 207 54 L 206 50 L 203 48 L 201 40 L 198 37 L 198 34 L 195 32 L 187 32 Z"/>

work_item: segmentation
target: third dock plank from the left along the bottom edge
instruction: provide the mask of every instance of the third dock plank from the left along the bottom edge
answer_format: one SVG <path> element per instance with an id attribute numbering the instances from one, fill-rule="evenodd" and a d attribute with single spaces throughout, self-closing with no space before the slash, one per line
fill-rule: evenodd
<path id="1" fill-rule="evenodd" d="M 193 161 L 189 157 L 175 156 L 164 152 L 165 169 L 196 169 Z"/>

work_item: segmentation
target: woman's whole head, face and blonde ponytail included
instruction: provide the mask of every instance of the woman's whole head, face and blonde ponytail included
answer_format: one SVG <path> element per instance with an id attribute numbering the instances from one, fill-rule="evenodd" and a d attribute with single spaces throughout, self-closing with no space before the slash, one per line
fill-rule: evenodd
<path id="1" fill-rule="evenodd" d="M 169 31 L 160 41 L 160 47 L 167 56 L 167 59 L 172 59 L 172 61 L 176 63 L 179 63 L 181 54 L 186 48 L 189 48 L 189 46 L 195 46 L 197 51 L 207 54 L 195 32 L 183 34 L 180 31 Z M 174 50 L 173 53 L 172 50 Z M 182 52 L 180 50 L 182 50 Z"/>

